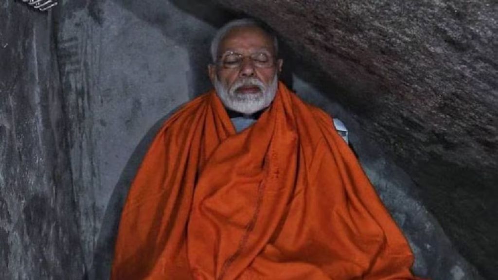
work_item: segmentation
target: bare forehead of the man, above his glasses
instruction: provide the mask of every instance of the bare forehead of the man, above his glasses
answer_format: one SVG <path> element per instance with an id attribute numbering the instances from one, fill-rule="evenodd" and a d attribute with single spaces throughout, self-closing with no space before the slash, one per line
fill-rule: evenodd
<path id="1" fill-rule="evenodd" d="M 273 39 L 259 27 L 241 26 L 231 29 L 220 42 L 218 53 L 227 50 L 251 51 L 267 49 L 273 52 Z"/>

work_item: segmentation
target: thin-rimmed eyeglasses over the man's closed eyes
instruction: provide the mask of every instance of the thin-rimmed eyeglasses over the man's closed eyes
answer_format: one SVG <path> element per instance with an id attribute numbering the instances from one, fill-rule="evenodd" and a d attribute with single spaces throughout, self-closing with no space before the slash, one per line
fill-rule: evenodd
<path id="1" fill-rule="evenodd" d="M 274 65 L 274 58 L 266 52 L 255 52 L 249 55 L 242 55 L 233 51 L 223 54 L 218 61 L 218 65 L 226 69 L 236 69 L 242 66 L 242 62 L 246 57 L 249 57 L 252 65 L 257 68 L 270 68 Z"/>

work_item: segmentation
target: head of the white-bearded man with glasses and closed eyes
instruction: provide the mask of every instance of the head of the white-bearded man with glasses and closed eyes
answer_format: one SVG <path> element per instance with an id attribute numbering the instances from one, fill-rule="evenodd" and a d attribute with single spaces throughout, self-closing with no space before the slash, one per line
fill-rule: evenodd
<path id="1" fill-rule="evenodd" d="M 277 53 L 276 37 L 251 19 L 231 21 L 216 33 L 209 77 L 227 108 L 252 114 L 270 105 L 282 67 Z"/>

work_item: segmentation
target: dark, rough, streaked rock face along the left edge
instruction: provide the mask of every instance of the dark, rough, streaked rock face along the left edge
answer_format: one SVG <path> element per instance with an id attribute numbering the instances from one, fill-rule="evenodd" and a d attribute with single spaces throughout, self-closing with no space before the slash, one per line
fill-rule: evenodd
<path id="1" fill-rule="evenodd" d="M 67 130 L 52 20 L 0 4 L 0 279 L 78 279 Z"/>

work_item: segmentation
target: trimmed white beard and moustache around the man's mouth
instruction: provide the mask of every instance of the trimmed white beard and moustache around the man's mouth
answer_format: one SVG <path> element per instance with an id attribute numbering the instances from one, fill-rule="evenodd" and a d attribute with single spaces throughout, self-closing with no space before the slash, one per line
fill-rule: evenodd
<path id="1" fill-rule="evenodd" d="M 227 90 L 218 80 L 218 77 L 215 77 L 214 86 L 218 97 L 220 97 L 225 107 L 235 112 L 250 115 L 271 104 L 277 92 L 278 76 L 275 73 L 275 76 L 268 87 L 256 78 L 243 78 L 235 82 L 232 87 Z M 255 94 L 237 93 L 237 90 L 242 86 L 257 86 L 259 92 Z"/>

